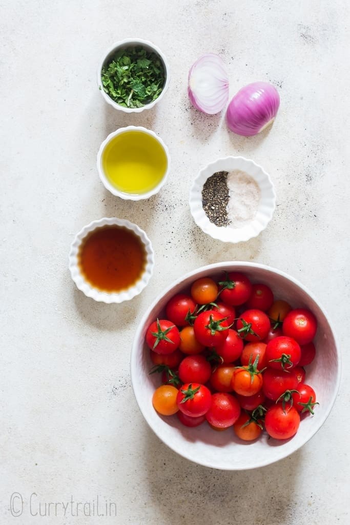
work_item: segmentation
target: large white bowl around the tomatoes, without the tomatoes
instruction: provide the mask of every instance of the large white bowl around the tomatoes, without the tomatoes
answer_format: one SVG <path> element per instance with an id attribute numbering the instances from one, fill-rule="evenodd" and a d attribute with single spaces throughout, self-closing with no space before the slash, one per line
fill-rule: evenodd
<path id="1" fill-rule="evenodd" d="M 160 384 L 156 374 L 150 375 L 150 351 L 144 343 L 147 327 L 164 315 L 167 301 L 180 291 L 188 291 L 191 283 L 200 277 L 222 277 L 222 271 L 242 271 L 252 282 L 269 285 L 275 298 L 289 301 L 292 307 L 313 311 L 318 330 L 315 337 L 316 358 L 307 366 L 307 382 L 313 386 L 317 401 L 314 416 L 302 419 L 298 432 L 289 440 L 268 438 L 266 432 L 255 442 L 241 442 L 232 428 L 215 432 L 206 423 L 187 428 L 177 416 L 162 417 L 152 406 L 152 395 Z M 245 470 L 269 465 L 292 454 L 320 429 L 334 404 L 341 374 L 340 352 L 326 312 L 300 282 L 268 266 L 253 262 L 219 262 L 190 271 L 168 286 L 151 304 L 136 330 L 131 352 L 131 380 L 140 410 L 155 434 L 181 456 L 200 465 L 222 470 Z"/>

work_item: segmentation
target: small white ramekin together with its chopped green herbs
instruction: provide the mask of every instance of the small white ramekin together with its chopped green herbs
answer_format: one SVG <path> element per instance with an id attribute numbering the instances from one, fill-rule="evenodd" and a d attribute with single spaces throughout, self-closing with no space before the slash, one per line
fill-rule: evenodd
<path id="1" fill-rule="evenodd" d="M 98 86 L 103 98 L 126 113 L 153 108 L 168 84 L 168 62 L 148 40 L 121 40 L 104 53 L 99 64 Z"/>

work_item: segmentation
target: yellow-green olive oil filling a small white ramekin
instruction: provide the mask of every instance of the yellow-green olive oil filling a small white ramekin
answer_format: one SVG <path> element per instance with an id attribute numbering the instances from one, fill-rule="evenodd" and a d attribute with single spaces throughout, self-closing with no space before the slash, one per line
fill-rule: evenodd
<path id="1" fill-rule="evenodd" d="M 139 195 L 161 182 L 167 170 L 167 157 L 163 146 L 152 135 L 125 131 L 105 146 L 102 169 L 116 190 Z"/>

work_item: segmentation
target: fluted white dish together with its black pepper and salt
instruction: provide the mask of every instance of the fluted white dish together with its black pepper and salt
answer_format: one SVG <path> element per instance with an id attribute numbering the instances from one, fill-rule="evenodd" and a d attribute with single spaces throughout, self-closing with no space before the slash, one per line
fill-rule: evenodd
<path id="1" fill-rule="evenodd" d="M 189 207 L 204 233 L 239 243 L 257 237 L 267 227 L 275 199 L 271 178 L 261 166 L 229 156 L 199 172 L 190 189 Z"/>

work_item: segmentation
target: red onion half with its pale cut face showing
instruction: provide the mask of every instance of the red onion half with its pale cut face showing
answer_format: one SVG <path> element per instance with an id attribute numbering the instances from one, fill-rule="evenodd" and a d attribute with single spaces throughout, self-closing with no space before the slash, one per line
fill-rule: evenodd
<path id="1" fill-rule="evenodd" d="M 188 73 L 188 96 L 194 107 L 214 115 L 228 101 L 228 76 L 224 61 L 214 53 L 198 58 Z"/>

